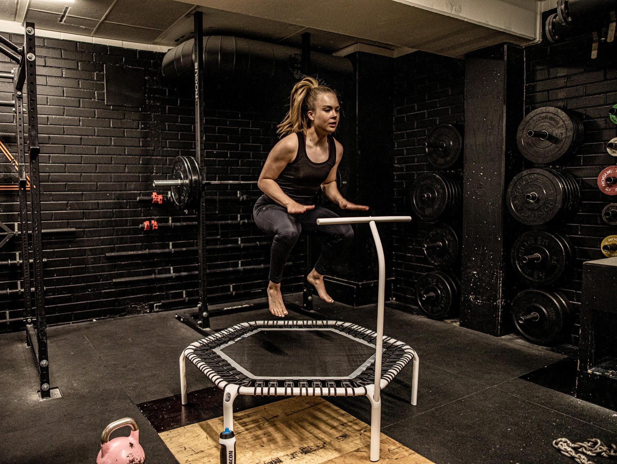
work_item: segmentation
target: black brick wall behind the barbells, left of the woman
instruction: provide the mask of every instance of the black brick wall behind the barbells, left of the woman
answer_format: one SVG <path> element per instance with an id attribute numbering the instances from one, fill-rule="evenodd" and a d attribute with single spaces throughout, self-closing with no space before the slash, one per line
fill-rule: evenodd
<path id="1" fill-rule="evenodd" d="M 5 35 L 9 37 L 8 35 Z M 15 43 L 19 35 L 10 35 Z M 166 178 L 177 155 L 194 155 L 194 101 L 190 83 L 178 91 L 162 81 L 163 54 L 77 43 L 37 39 L 39 144 L 41 146 L 41 199 L 44 228 L 75 227 L 77 233 L 45 235 L 43 240 L 48 323 L 64 323 L 112 317 L 154 309 L 160 300 L 197 295 L 194 277 L 112 284 L 112 279 L 197 270 L 196 253 L 133 259 L 107 259 L 107 252 L 195 246 L 194 226 L 147 233 L 139 224 L 152 218 L 160 223 L 195 222 L 195 212 L 181 212 L 171 205 L 151 206 L 136 197 L 152 192 L 151 181 Z M 105 104 L 104 65 L 143 68 L 146 101 L 143 108 L 110 107 Z M 0 58 L 0 71 L 12 64 Z M 0 83 L 0 99 L 12 99 L 11 86 Z M 214 180 L 257 180 L 271 147 L 276 143 L 276 122 L 284 115 L 281 106 L 260 110 L 233 94 L 208 102 L 207 174 Z M 14 115 L 0 109 L 0 137 L 15 151 Z M 0 172 L 11 172 L 0 154 Z M 17 176 L 14 176 L 17 181 Z M 213 186 L 209 194 L 237 196 L 238 186 Z M 250 189 L 250 190 L 249 190 Z M 162 189 L 158 189 L 161 193 Z M 259 196 L 256 184 L 241 194 Z M 211 221 L 251 220 L 250 201 L 212 201 Z M 17 193 L 0 192 L 0 220 L 19 222 Z M 209 246 L 255 244 L 265 241 L 256 226 L 210 225 Z M 299 291 L 304 269 L 302 244 L 290 258 L 283 284 Z M 12 239 L 0 249 L 0 261 L 15 259 L 19 241 Z M 240 272 L 239 266 L 267 265 L 264 246 L 209 251 L 209 269 L 230 269 L 209 276 L 209 302 L 264 296 L 267 269 Z M 20 268 L 0 267 L 2 318 L 22 315 L 21 296 L 2 296 L 16 289 Z M 217 297 L 218 295 L 218 297 Z M 0 320 L 1 322 L 1 320 Z M 20 325 L 0 325 L 0 331 Z"/>

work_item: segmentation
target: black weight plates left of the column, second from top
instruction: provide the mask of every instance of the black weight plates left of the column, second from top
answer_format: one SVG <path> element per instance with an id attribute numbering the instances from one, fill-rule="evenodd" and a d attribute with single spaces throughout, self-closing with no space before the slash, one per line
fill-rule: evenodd
<path id="1" fill-rule="evenodd" d="M 413 183 L 410 203 L 413 212 L 425 221 L 457 210 L 461 202 L 460 179 L 445 173 L 425 173 Z"/>

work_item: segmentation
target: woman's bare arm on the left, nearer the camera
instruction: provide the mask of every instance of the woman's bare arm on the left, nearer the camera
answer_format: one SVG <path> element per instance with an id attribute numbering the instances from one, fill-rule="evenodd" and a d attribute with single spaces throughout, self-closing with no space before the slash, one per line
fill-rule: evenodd
<path id="1" fill-rule="evenodd" d="M 276 183 L 276 179 L 286 165 L 295 159 L 297 151 L 298 138 L 296 134 L 288 135 L 278 141 L 270 150 L 257 181 L 259 189 L 278 204 L 286 207 L 290 214 L 304 213 L 307 209 L 315 207 L 315 205 L 302 205 L 292 200 Z"/>

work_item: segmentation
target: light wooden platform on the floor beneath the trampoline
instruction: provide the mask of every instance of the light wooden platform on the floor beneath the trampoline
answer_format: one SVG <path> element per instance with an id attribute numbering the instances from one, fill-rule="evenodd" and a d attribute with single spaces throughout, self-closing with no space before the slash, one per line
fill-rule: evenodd
<path id="1" fill-rule="evenodd" d="M 291 397 L 236 413 L 234 420 L 239 464 L 370 463 L 370 426 L 321 397 Z M 218 417 L 160 437 L 181 464 L 219 464 L 222 431 Z M 384 434 L 379 462 L 433 464 Z"/>

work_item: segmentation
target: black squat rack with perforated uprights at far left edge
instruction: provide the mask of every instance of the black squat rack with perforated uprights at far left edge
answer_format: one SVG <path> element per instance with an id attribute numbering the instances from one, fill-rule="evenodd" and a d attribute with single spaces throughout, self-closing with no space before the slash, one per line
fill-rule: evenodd
<path id="1" fill-rule="evenodd" d="M 35 24 L 25 23 L 23 46 L 12 43 L 0 35 L 0 52 L 17 64 L 10 73 L 0 73 L 0 78 L 14 83 L 12 101 L 0 101 L 1 107 L 12 107 L 17 131 L 17 162 L 19 167 L 19 218 L 22 242 L 23 319 L 26 323 L 26 341 L 32 348 L 39 372 L 40 399 L 51 397 L 49 387 L 49 360 L 47 349 L 47 324 L 45 321 L 45 294 L 43 284 L 43 226 L 41 223 L 41 188 L 39 183 L 38 114 L 36 108 L 36 38 Z M 25 94 L 25 96 L 24 96 Z M 24 106 L 25 98 L 25 106 Z M 27 115 L 27 123 L 23 115 Z M 24 126 L 27 124 L 27 144 Z M 28 199 L 26 152 L 30 166 L 30 208 L 32 214 L 32 250 L 34 268 L 35 309 L 32 307 L 30 288 L 30 250 L 28 247 Z"/>

